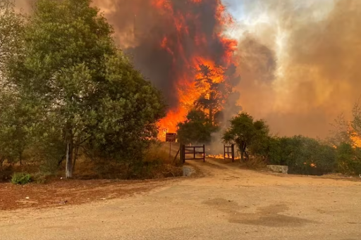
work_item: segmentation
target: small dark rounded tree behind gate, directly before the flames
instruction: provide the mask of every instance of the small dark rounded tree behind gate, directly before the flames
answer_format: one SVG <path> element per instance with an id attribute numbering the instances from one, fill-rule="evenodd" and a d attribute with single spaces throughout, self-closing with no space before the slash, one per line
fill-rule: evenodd
<path id="1" fill-rule="evenodd" d="M 202 110 L 191 110 L 187 120 L 178 124 L 177 137 L 182 144 L 207 144 L 217 130 Z"/>

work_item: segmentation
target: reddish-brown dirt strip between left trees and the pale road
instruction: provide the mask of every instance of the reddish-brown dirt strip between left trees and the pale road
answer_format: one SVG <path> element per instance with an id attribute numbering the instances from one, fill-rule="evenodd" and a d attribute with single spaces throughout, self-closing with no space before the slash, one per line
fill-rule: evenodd
<path id="1" fill-rule="evenodd" d="M 132 196 L 176 181 L 66 180 L 53 179 L 48 184 L 14 185 L 0 183 L 0 210 L 51 208 Z"/>

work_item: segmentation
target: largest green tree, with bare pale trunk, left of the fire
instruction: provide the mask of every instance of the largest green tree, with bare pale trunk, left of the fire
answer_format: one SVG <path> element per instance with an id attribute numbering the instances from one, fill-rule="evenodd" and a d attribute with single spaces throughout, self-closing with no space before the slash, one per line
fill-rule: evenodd
<path id="1" fill-rule="evenodd" d="M 90 4 L 36 1 L 23 52 L 11 61 L 11 83 L 39 113 L 37 132 L 59 130 L 51 139 L 63 139 L 66 177 L 73 176 L 79 147 L 132 153 L 135 140 L 154 137 L 164 115 L 159 91 L 116 49 L 112 27 Z"/>

